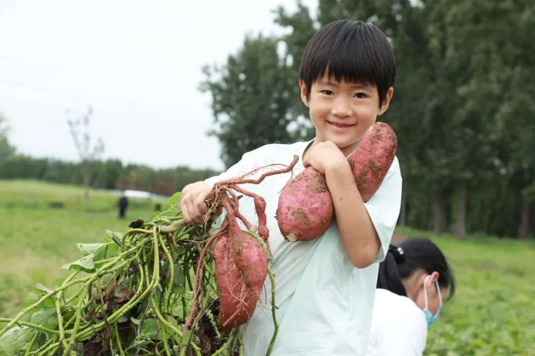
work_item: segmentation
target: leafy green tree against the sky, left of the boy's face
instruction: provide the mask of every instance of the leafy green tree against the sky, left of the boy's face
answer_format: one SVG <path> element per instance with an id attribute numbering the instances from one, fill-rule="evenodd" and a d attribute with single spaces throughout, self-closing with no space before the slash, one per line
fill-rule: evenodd
<path id="1" fill-rule="evenodd" d="M 278 54 L 276 38 L 247 36 L 223 66 L 205 66 L 201 90 L 210 92 L 216 136 L 227 167 L 243 153 L 270 143 L 293 141 L 288 125 L 295 77 Z"/>

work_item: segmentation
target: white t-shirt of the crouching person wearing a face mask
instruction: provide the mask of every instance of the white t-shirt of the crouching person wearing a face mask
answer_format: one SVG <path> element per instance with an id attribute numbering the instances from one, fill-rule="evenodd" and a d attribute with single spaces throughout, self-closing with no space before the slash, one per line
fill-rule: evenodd
<path id="1" fill-rule="evenodd" d="M 421 356 L 427 338 L 423 311 L 411 299 L 378 288 L 367 356 Z"/>

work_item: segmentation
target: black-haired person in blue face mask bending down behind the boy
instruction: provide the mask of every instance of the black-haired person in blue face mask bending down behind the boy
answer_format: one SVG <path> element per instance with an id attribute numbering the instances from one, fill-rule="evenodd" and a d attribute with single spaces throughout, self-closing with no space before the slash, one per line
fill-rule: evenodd
<path id="1" fill-rule="evenodd" d="M 431 240 L 390 245 L 379 265 L 367 356 L 419 356 L 427 329 L 455 282 L 444 254 Z"/>

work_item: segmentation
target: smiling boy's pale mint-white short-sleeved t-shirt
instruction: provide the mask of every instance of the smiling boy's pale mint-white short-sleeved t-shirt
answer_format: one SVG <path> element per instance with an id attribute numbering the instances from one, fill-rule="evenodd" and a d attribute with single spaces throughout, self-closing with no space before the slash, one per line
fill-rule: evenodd
<path id="1" fill-rule="evenodd" d="M 213 185 L 268 164 L 288 165 L 297 155 L 295 176 L 304 169 L 302 156 L 310 142 L 263 146 L 244 154 L 228 171 L 206 181 Z M 262 169 L 254 177 L 274 168 L 280 166 Z M 261 195 L 267 205 L 269 242 L 274 256 L 270 268 L 276 279 L 276 312 L 280 324 L 271 355 L 363 356 L 368 344 L 378 263 L 384 259 L 400 210 L 398 159 L 394 159 L 383 184 L 365 204 L 381 240 L 381 249 L 376 263 L 362 269 L 349 261 L 335 223 L 316 240 L 284 240 L 275 215 L 279 193 L 291 178 L 292 173 L 285 173 L 266 177 L 258 185 L 241 186 Z M 253 199 L 240 199 L 240 212 L 251 224 L 257 224 Z M 264 288 L 254 314 L 242 328 L 245 356 L 264 355 L 273 335 L 269 276 Z"/>

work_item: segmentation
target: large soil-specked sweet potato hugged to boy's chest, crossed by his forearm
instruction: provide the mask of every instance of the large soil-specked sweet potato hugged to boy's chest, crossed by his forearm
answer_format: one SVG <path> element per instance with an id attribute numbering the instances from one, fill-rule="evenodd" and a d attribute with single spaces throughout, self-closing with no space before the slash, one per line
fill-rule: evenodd
<path id="1" fill-rule="evenodd" d="M 377 122 L 364 133 L 349 157 L 349 167 L 364 202 L 383 183 L 397 148 L 392 128 Z M 308 241 L 321 236 L 331 225 L 333 216 L 334 206 L 325 176 L 314 168 L 305 169 L 280 193 L 277 223 L 288 241 Z"/>

